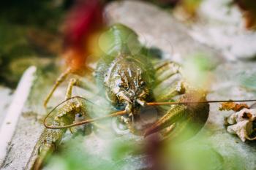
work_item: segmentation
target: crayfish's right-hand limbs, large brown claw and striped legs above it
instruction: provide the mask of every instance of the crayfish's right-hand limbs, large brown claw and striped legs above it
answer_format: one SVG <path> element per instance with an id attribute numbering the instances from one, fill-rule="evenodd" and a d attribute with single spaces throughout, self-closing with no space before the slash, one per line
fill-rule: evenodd
<path id="1" fill-rule="evenodd" d="M 206 101 L 206 93 L 189 87 L 182 80 L 180 66 L 171 61 L 157 63 L 156 88 L 154 94 L 157 101 L 172 101 L 179 96 L 178 102 Z M 154 104 L 154 102 L 152 103 Z M 170 107 L 156 123 L 145 132 L 145 136 L 160 131 L 166 138 L 184 136 L 188 138 L 200 131 L 208 118 L 209 105 L 178 104 Z"/>

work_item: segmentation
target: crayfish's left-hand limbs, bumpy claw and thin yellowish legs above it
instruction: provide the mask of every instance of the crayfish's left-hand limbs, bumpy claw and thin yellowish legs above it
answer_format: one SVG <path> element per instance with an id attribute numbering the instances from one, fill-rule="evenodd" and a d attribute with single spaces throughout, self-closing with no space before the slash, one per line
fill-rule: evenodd
<path id="1" fill-rule="evenodd" d="M 53 90 L 50 92 L 45 101 L 48 101 L 50 99 L 50 96 L 53 94 L 56 86 L 58 86 L 59 83 L 61 81 L 64 81 L 64 78 L 67 77 L 66 74 L 61 74 L 62 78 L 59 78 L 57 80 L 56 85 L 53 87 Z M 67 99 L 72 97 L 72 88 L 74 86 L 85 88 L 85 84 L 86 83 L 78 79 L 70 79 L 65 98 Z M 47 102 L 45 104 L 47 104 Z M 78 113 L 83 117 L 89 118 L 86 114 L 86 106 L 84 104 L 84 101 L 81 101 L 80 98 L 72 98 L 72 100 L 67 101 L 67 103 L 65 103 L 64 106 L 59 109 L 58 113 L 53 118 L 53 122 L 51 123 L 51 125 L 58 127 L 72 124 L 75 120 L 75 115 L 77 115 Z M 53 151 L 56 150 L 56 148 L 59 146 L 61 139 L 66 131 L 67 128 L 44 129 L 41 136 L 39 137 L 39 141 L 34 147 L 34 152 L 32 153 L 32 157 L 35 158 L 32 169 L 41 169 L 42 164 L 47 160 L 48 156 L 51 155 Z"/>

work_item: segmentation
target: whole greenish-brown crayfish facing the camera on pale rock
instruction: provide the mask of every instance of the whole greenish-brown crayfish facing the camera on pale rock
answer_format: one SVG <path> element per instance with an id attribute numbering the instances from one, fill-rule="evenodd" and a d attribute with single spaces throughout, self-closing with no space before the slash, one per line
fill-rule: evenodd
<path id="1" fill-rule="evenodd" d="M 135 135 L 148 136 L 159 132 L 165 139 L 175 139 L 184 136 L 189 128 L 189 135 L 185 135 L 187 139 L 197 134 L 206 123 L 209 114 L 207 93 L 184 80 L 181 66 L 172 61 L 162 61 L 154 53 L 150 53 L 150 50 L 140 44 L 138 35 L 127 26 L 115 24 L 103 35 L 103 39 L 108 41 L 103 43 L 105 54 L 94 70 L 96 85 L 89 85 L 84 77 L 69 80 L 64 107 L 59 109 L 51 125 L 44 122 L 46 128 L 37 144 L 39 156 L 34 169 L 39 169 L 46 155 L 55 150 L 66 129 L 75 125 L 118 117 L 116 123 L 121 123 Z M 71 73 L 72 70 L 67 69 L 61 74 L 45 99 L 45 106 L 56 88 Z M 108 101 L 113 113 L 91 118 L 86 104 L 81 102 L 89 99 L 72 96 L 74 86 L 92 93 L 98 89 L 97 95 Z M 162 105 L 170 107 L 160 107 Z M 141 112 L 151 107 L 157 107 L 157 119 L 143 123 Z M 86 120 L 74 123 L 78 113 Z"/>

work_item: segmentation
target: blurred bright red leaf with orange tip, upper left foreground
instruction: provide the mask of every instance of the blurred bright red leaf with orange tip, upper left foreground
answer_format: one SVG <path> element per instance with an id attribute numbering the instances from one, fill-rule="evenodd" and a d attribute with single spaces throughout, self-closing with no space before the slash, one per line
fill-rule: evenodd
<path id="1" fill-rule="evenodd" d="M 83 69 L 89 55 L 92 34 L 104 27 L 103 4 L 99 0 L 78 0 L 64 21 L 64 56 L 72 69 Z"/>

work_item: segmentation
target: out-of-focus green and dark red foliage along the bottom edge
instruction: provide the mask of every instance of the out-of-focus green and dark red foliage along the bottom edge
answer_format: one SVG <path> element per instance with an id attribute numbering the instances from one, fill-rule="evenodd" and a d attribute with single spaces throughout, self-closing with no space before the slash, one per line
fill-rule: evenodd
<path id="1" fill-rule="evenodd" d="M 138 143 L 124 136 L 105 140 L 104 144 L 91 144 L 94 148 L 86 147 L 84 140 L 78 136 L 64 144 L 65 150 L 53 155 L 45 169 L 222 170 L 225 167 L 222 156 L 204 139 L 176 144 L 149 139 Z"/>

